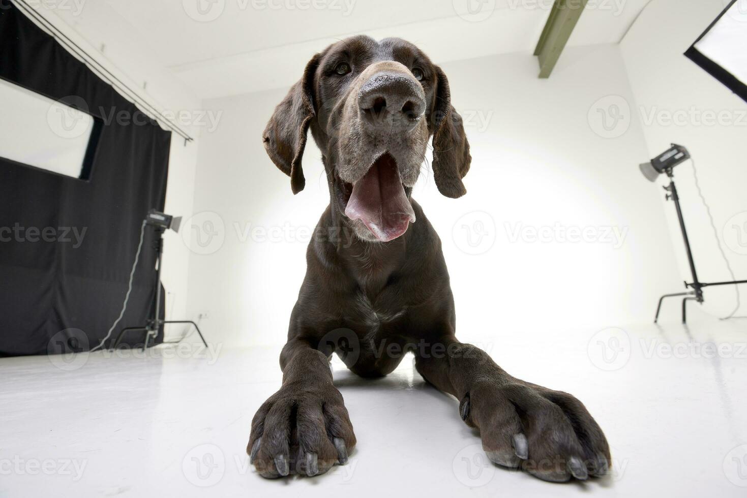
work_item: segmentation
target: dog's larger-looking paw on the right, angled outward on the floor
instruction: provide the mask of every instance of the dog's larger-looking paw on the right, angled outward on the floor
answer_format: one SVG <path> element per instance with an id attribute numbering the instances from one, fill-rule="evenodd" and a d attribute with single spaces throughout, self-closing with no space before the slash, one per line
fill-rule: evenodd
<path id="1" fill-rule="evenodd" d="M 488 458 L 552 482 L 604 476 L 610 446 L 574 396 L 528 383 L 475 386 L 459 414 L 480 429 Z"/>

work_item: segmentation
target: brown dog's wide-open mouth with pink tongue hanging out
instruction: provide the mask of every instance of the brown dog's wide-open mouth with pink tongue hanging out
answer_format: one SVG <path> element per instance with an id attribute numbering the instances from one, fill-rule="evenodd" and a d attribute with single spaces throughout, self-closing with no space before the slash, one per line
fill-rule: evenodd
<path id="1" fill-rule="evenodd" d="M 415 222 L 415 211 L 407 200 L 394 158 L 383 155 L 356 181 L 345 215 L 364 222 L 382 242 L 396 239 L 407 231 L 409 222 Z"/>

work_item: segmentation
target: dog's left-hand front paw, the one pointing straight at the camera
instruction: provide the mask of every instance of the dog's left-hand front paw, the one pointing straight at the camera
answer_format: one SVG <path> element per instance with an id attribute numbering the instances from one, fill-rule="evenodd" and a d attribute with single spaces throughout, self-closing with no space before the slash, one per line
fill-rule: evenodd
<path id="1" fill-rule="evenodd" d="M 252 420 L 247 453 L 262 477 L 316 476 L 345 464 L 356 446 L 342 395 L 332 385 L 284 385 Z"/>

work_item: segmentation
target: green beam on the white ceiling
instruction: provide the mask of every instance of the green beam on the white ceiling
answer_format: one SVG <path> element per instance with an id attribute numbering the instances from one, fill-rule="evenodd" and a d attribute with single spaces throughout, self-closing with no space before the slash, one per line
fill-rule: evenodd
<path id="1" fill-rule="evenodd" d="M 539 57 L 539 77 L 549 78 L 589 0 L 555 0 L 534 51 Z"/>

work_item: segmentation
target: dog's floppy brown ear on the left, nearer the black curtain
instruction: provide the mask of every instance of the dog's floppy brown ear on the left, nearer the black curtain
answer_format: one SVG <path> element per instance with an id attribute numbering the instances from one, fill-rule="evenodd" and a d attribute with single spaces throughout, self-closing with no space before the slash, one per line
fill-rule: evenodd
<path id="1" fill-rule="evenodd" d="M 303 149 L 306 131 L 309 130 L 314 111 L 314 73 L 320 55 L 314 55 L 306 64 L 303 78 L 297 81 L 282 99 L 262 133 L 264 150 L 280 171 L 291 177 L 291 190 L 299 193 L 306 186 L 303 177 Z"/>

